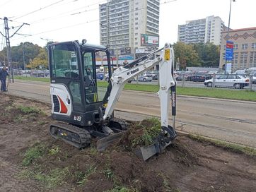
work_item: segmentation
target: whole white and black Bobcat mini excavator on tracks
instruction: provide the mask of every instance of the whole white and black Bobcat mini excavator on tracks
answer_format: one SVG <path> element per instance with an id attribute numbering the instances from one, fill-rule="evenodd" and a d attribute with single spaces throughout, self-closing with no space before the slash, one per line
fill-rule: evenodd
<path id="1" fill-rule="evenodd" d="M 173 143 L 175 131 L 176 86 L 173 78 L 173 47 L 166 43 L 162 49 L 141 57 L 112 73 L 110 52 L 107 47 L 81 43 L 57 42 L 49 44 L 50 95 L 52 118 L 61 121 L 50 126 L 54 138 L 61 138 L 76 148 L 86 148 L 92 138 L 98 138 L 98 150 L 104 150 L 113 140 L 120 138 L 127 129 L 115 121 L 114 109 L 124 85 L 140 73 L 159 65 L 158 97 L 161 100 L 162 131 L 153 145 L 141 147 L 139 155 L 144 160 L 161 153 Z M 96 64 L 107 63 L 107 88 L 100 86 Z M 171 95 L 170 95 L 171 92 Z M 171 103 L 170 103 L 171 97 Z M 172 107 L 173 126 L 168 124 Z"/>

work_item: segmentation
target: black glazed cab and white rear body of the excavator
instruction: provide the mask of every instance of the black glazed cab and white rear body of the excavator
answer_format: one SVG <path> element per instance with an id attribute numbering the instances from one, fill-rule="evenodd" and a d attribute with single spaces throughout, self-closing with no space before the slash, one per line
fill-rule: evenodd
<path id="1" fill-rule="evenodd" d="M 53 119 L 78 126 L 98 124 L 99 110 L 107 103 L 107 88 L 98 87 L 96 64 L 103 62 L 98 59 L 105 60 L 111 76 L 106 47 L 62 42 L 50 44 L 48 54 Z"/>

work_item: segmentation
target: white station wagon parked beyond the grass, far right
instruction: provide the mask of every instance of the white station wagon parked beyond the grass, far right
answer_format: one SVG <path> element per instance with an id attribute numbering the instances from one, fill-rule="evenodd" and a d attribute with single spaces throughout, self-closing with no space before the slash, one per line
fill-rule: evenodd
<path id="1" fill-rule="evenodd" d="M 215 79 L 215 87 L 225 87 L 225 88 L 235 88 L 235 89 L 243 89 L 244 87 L 249 85 L 249 78 L 244 78 L 243 76 L 238 76 L 235 74 L 228 74 L 219 76 Z M 212 87 L 213 78 L 204 81 L 204 85 L 207 87 Z"/>

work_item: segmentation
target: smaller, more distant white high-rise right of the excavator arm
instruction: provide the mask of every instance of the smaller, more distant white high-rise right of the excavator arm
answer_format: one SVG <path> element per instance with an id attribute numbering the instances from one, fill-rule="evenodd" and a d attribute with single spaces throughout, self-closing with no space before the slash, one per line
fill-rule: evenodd
<path id="1" fill-rule="evenodd" d="M 188 43 L 221 44 L 221 32 L 226 28 L 220 17 L 209 16 L 186 21 L 178 26 L 178 41 Z"/>

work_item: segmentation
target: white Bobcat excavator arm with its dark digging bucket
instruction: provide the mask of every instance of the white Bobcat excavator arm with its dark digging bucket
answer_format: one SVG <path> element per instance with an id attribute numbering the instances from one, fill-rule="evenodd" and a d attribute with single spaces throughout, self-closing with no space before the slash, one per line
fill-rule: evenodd
<path id="1" fill-rule="evenodd" d="M 153 55 L 155 59 L 150 59 Z M 110 78 L 112 89 L 108 97 L 107 107 L 103 120 L 107 121 L 115 109 L 115 105 L 120 97 L 124 85 L 132 78 L 140 73 L 149 70 L 153 66 L 159 65 L 159 90 L 157 92 L 161 101 L 161 136 L 158 137 L 156 143 L 147 148 L 141 148 L 137 153 L 144 160 L 148 159 L 156 153 L 160 153 L 163 149 L 170 145 L 172 140 L 177 136 L 175 132 L 175 78 L 173 78 L 174 53 L 173 47 L 166 43 L 165 47 L 158 49 L 144 58 L 136 60 L 127 66 L 117 68 Z M 172 89 L 171 89 L 172 88 Z M 170 90 L 172 90 L 172 112 L 173 126 L 168 125 L 169 109 L 170 109 Z"/>

